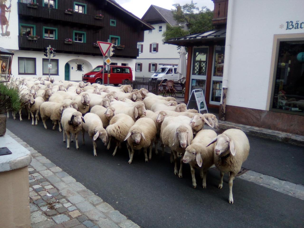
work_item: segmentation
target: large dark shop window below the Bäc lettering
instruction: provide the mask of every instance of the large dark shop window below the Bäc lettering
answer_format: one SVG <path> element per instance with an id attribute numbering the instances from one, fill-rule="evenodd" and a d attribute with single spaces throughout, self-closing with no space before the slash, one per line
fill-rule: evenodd
<path id="1" fill-rule="evenodd" d="M 304 40 L 278 40 L 278 46 L 271 108 L 304 115 Z"/>

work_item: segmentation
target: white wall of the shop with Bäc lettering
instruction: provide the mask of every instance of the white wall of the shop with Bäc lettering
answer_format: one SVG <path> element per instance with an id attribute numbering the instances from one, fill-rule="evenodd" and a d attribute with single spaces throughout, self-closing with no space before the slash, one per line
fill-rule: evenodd
<path id="1" fill-rule="evenodd" d="M 287 21 L 304 22 L 304 2 L 232 1 L 233 8 L 228 10 L 228 18 L 232 17 L 230 63 L 228 70 L 225 67 L 223 77 L 228 79 L 226 102 L 227 105 L 266 110 L 274 34 L 304 33 L 304 23 L 303 29 L 286 29 Z M 226 50 L 227 45 L 226 42 Z M 225 63 L 226 58 L 227 55 Z"/>

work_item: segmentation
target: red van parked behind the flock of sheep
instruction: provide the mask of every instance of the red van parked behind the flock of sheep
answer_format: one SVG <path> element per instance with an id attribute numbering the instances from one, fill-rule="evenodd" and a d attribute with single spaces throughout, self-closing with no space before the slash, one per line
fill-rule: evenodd
<path id="1" fill-rule="evenodd" d="M 92 71 L 86 73 L 83 76 L 82 81 L 102 84 L 102 68 L 103 66 L 97 66 Z M 104 84 L 106 84 L 108 78 L 108 72 L 105 71 Z M 123 80 L 133 80 L 131 67 L 126 66 L 110 66 L 110 78 L 109 84 L 119 85 Z"/>

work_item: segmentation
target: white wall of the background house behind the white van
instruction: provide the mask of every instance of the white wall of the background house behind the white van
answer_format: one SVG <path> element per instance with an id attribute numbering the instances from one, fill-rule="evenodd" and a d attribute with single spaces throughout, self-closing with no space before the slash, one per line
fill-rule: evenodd
<path id="1" fill-rule="evenodd" d="M 160 63 L 168 64 L 178 64 L 179 54 L 176 45 L 164 44 L 163 43 L 163 33 L 166 31 L 166 23 L 152 24 L 155 29 L 152 30 L 152 33 L 149 31 L 144 31 L 144 41 L 137 43 L 143 44 L 143 52 L 139 54 L 139 57 L 136 59 L 136 63 L 142 63 L 143 68 L 141 72 L 136 71 L 136 78 L 142 78 L 143 75 L 145 78 L 148 78 L 152 75 L 149 72 L 149 63 L 157 63 L 159 67 Z M 158 27 L 162 27 L 162 32 L 158 32 Z M 150 43 L 158 43 L 158 52 L 150 52 Z"/>

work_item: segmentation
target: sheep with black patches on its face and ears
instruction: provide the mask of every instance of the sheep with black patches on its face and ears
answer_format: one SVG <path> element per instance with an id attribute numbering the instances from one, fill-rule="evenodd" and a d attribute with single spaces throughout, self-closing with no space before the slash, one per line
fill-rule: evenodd
<path id="1" fill-rule="evenodd" d="M 63 128 L 63 142 L 65 142 L 65 135 L 67 135 L 67 149 L 70 148 L 70 134 L 72 133 L 75 136 L 76 149 L 79 150 L 78 134 L 81 131 L 82 122 L 85 123 L 85 120 L 81 112 L 73 108 L 64 109 L 61 124 Z M 71 141 L 73 142 L 73 140 Z"/>

